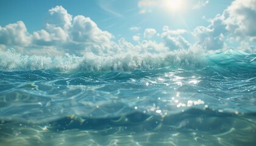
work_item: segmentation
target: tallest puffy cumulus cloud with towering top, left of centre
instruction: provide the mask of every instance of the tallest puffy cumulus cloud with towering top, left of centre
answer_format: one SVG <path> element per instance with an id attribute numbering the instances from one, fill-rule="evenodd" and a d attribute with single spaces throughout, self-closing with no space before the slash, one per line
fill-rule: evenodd
<path id="1" fill-rule="evenodd" d="M 54 23 L 46 24 L 47 32 L 42 33 L 43 30 L 41 30 L 41 32 L 34 33 L 34 36 L 37 33 L 48 36 L 50 40 L 44 39 L 46 43 L 51 44 L 53 41 L 58 44 L 61 41 L 66 49 L 66 46 L 74 45 L 79 48 L 78 50 L 93 46 L 97 48 L 105 47 L 107 43 L 111 43 L 112 34 L 99 29 L 97 24 L 88 17 L 78 15 L 72 18 L 62 6 L 52 8 L 49 13 L 55 19 Z"/>

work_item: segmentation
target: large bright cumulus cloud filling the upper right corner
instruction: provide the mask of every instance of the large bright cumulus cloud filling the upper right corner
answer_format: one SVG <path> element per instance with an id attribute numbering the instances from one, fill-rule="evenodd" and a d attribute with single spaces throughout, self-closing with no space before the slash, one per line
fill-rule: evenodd
<path id="1" fill-rule="evenodd" d="M 199 44 L 207 49 L 223 49 L 226 40 L 254 41 L 256 37 L 256 0 L 236 0 L 224 10 L 222 15 L 216 15 L 207 27 L 198 26 L 194 36 Z"/>

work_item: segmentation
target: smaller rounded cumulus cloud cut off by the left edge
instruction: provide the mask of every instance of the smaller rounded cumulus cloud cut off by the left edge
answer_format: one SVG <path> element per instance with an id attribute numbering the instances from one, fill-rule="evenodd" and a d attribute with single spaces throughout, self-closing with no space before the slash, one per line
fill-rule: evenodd
<path id="1" fill-rule="evenodd" d="M 32 36 L 27 32 L 23 21 L 0 27 L 0 44 L 29 46 L 31 41 Z"/>

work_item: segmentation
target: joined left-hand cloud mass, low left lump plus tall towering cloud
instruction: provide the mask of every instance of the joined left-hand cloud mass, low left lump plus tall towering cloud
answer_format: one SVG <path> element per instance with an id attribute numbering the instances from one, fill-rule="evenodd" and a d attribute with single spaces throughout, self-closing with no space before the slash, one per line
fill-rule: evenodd
<path id="1" fill-rule="evenodd" d="M 0 44 L 12 45 L 20 52 L 33 52 L 36 49 L 55 50 L 83 54 L 94 52 L 104 54 L 115 52 L 111 41 L 112 34 L 99 29 L 90 18 L 78 15 L 73 17 L 62 6 L 49 10 L 46 28 L 30 35 L 22 21 L 0 27 Z M 26 46 L 26 48 L 22 48 Z M 116 49 L 116 48 L 115 48 Z M 38 51 L 40 52 L 40 51 Z M 43 53 L 43 52 L 41 52 Z"/>

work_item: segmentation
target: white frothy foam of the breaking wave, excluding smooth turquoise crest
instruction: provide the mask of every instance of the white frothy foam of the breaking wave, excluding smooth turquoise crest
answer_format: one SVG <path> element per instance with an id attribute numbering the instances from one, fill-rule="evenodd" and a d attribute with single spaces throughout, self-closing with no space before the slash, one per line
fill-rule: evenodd
<path id="1" fill-rule="evenodd" d="M 22 55 L 12 50 L 0 53 L 1 70 L 56 69 L 59 71 L 133 71 L 157 69 L 166 66 L 197 68 L 204 66 L 204 54 L 188 50 L 174 50 L 168 54 L 116 54 L 82 57 L 65 54 L 54 58 L 40 55 Z"/>

